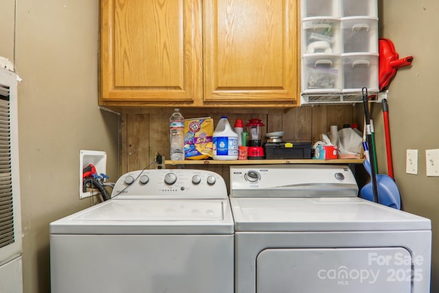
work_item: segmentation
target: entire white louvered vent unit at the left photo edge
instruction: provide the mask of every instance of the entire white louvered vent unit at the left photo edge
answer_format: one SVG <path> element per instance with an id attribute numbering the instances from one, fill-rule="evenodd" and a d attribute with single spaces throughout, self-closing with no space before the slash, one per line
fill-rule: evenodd
<path id="1" fill-rule="evenodd" d="M 19 75 L 0 57 L 0 292 L 23 292 L 19 164 Z"/>

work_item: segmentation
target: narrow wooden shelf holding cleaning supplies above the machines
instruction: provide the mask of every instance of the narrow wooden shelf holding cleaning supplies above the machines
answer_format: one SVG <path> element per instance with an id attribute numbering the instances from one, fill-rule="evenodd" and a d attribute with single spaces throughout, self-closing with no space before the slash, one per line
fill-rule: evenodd
<path id="1" fill-rule="evenodd" d="M 255 165 L 255 164 L 362 164 L 363 159 L 337 159 L 337 160 L 316 160 L 316 159 L 283 159 L 283 160 L 165 160 L 165 165 Z"/>

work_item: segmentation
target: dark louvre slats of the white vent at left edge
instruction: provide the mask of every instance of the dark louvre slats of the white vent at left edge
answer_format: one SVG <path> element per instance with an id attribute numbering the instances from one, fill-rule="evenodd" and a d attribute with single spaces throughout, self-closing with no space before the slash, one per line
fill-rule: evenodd
<path id="1" fill-rule="evenodd" d="M 0 248 L 14 243 L 10 134 L 10 89 L 0 84 Z"/>

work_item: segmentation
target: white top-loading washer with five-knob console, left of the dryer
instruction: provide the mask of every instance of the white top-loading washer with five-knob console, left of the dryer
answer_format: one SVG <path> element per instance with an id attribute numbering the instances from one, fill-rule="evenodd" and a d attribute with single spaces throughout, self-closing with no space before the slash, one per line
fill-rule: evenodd
<path id="1" fill-rule="evenodd" d="M 111 200 L 50 224 L 51 292 L 232 293 L 233 251 L 221 176 L 130 172 Z"/>

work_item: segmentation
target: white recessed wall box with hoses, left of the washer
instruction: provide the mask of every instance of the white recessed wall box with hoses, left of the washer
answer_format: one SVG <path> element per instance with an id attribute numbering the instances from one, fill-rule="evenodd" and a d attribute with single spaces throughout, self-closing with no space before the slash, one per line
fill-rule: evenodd
<path id="1" fill-rule="evenodd" d="M 106 174 L 107 154 L 96 150 L 80 150 L 80 198 L 95 196 L 99 191 L 86 191 L 82 189 L 82 170 L 89 164 L 93 164 L 96 168 L 96 174 Z"/>

